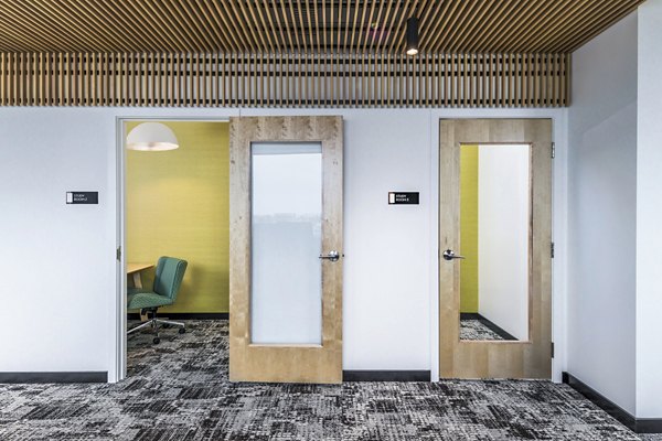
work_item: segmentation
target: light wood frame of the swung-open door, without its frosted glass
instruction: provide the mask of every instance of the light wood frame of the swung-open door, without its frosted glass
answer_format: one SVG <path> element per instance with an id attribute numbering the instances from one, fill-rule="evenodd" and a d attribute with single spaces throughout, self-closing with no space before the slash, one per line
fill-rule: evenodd
<path id="1" fill-rule="evenodd" d="M 239 117 L 229 123 L 229 379 L 342 381 L 342 259 L 323 261 L 322 344 L 250 343 L 250 143 L 322 143 L 322 250 L 342 255 L 342 117 Z M 340 185 L 339 185 L 340 183 Z M 338 228 L 340 225 L 340 228 Z"/>

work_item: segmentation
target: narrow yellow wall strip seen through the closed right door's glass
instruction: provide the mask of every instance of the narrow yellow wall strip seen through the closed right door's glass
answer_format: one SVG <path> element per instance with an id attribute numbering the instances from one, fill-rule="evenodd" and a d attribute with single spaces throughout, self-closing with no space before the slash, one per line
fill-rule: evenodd
<path id="1" fill-rule="evenodd" d="M 460 147 L 460 312 L 478 312 L 478 146 Z"/>

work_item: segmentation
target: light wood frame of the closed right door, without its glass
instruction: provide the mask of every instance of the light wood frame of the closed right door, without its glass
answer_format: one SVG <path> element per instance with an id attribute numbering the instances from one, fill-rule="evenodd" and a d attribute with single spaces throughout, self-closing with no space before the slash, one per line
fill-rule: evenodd
<path id="1" fill-rule="evenodd" d="M 552 119 L 441 119 L 439 121 L 439 252 L 461 251 L 460 144 L 530 143 L 532 246 L 530 340 L 460 341 L 459 263 L 439 258 L 439 376 L 441 378 L 551 378 L 552 376 Z M 439 255 L 440 256 L 440 255 Z M 451 280 L 452 282 L 444 282 Z"/>

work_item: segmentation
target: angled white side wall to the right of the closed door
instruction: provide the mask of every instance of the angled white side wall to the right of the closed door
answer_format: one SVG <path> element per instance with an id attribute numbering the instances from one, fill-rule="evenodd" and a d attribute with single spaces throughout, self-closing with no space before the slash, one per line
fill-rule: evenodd
<path id="1" fill-rule="evenodd" d="M 637 14 L 573 55 L 568 372 L 634 413 Z"/>

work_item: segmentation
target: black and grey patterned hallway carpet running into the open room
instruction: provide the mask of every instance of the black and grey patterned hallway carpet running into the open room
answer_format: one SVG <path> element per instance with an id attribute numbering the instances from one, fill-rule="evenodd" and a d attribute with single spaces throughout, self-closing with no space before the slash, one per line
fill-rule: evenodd
<path id="1" fill-rule="evenodd" d="M 0 385 L 0 440 L 640 439 L 548 381 L 232 384 L 227 322 L 188 323 L 131 337 L 117 385 Z"/>

